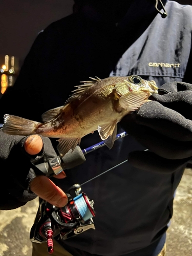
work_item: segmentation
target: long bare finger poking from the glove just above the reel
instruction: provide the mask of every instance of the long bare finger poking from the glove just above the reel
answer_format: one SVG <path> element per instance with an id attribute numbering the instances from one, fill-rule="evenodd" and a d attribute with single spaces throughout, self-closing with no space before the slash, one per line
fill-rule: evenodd
<path id="1" fill-rule="evenodd" d="M 36 176 L 30 183 L 30 189 L 57 207 L 63 207 L 68 203 L 67 195 L 46 176 Z"/>

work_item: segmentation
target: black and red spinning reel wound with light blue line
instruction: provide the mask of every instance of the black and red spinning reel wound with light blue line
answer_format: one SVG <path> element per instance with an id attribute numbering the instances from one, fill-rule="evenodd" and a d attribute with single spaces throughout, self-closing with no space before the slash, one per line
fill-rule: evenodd
<path id="1" fill-rule="evenodd" d="M 94 201 L 74 184 L 69 192 L 68 204 L 62 208 L 41 200 L 35 222 L 31 228 L 30 239 L 34 243 L 47 242 L 48 252 L 53 253 L 53 238 L 66 240 L 90 228 L 95 229 L 93 217 Z"/>

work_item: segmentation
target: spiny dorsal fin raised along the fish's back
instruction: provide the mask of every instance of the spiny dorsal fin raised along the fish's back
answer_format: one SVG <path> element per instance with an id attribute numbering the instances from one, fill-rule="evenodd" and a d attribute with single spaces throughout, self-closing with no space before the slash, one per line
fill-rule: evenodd
<path id="1" fill-rule="evenodd" d="M 69 99 L 67 99 L 65 104 L 70 103 L 72 100 L 78 98 L 80 96 L 81 93 L 83 93 L 84 91 L 86 91 L 87 89 L 89 89 L 91 86 L 93 86 L 94 83 L 100 81 L 101 79 L 98 78 L 96 76 L 96 78 L 90 77 L 92 80 L 90 81 L 81 81 L 83 82 L 83 84 L 80 84 L 79 86 L 75 86 L 77 87 L 77 89 L 75 89 L 74 91 L 72 91 L 72 95 L 69 97 Z"/>

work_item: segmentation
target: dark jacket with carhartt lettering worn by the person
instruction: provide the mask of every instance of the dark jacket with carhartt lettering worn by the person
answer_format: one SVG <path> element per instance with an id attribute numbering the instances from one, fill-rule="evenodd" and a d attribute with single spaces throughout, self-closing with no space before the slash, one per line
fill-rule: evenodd
<path id="1" fill-rule="evenodd" d="M 165 9 L 168 16 L 162 19 L 150 1 L 137 0 L 118 26 L 102 26 L 83 11 L 51 24 L 38 34 L 14 87 L 2 97 L 2 122 L 6 113 L 41 121 L 42 113 L 63 105 L 73 87 L 89 77 L 136 74 L 158 86 L 175 80 L 192 83 L 186 71 L 191 67 L 192 7 L 168 1 Z M 80 146 L 99 141 L 94 133 Z M 88 154 L 85 163 L 66 172 L 66 179 L 54 182 L 66 191 L 126 160 L 129 152 L 144 149 L 127 136 L 110 151 L 102 147 Z M 117 256 L 142 248 L 139 256 L 146 255 L 167 229 L 182 174 L 183 169 L 166 175 L 144 172 L 126 163 L 87 183 L 82 189 L 94 199 L 96 230 L 65 243 L 98 255 Z M 9 182 L 8 177 L 1 182 Z M 9 195 L 2 196 L 9 204 Z"/>

